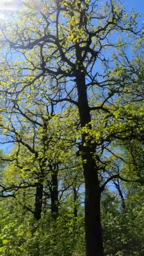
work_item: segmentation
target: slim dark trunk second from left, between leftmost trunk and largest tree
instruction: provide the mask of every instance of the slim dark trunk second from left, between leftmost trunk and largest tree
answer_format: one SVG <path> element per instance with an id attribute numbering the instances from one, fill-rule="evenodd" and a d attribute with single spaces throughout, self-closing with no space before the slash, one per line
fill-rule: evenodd
<path id="1" fill-rule="evenodd" d="M 56 219 L 59 216 L 59 198 L 58 198 L 58 166 L 53 167 L 51 173 L 51 216 Z"/>

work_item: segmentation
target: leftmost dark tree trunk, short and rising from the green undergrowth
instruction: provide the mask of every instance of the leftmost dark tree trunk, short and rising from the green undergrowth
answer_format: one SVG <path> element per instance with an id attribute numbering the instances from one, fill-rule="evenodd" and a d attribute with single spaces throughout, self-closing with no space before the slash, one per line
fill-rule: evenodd
<path id="1" fill-rule="evenodd" d="M 41 218 L 43 204 L 43 184 L 37 182 L 36 195 L 35 195 L 35 211 L 34 217 L 39 220 Z"/>

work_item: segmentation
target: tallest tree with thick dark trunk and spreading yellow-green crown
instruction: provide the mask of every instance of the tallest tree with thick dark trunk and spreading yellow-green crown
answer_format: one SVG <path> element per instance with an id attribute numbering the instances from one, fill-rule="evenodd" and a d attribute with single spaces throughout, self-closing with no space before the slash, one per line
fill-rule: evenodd
<path id="1" fill-rule="evenodd" d="M 99 155 L 104 147 L 110 150 L 108 146 L 114 139 L 129 139 L 133 128 L 127 115 L 130 110 L 125 115 L 126 107 L 118 106 L 117 97 L 121 91 L 124 93 L 123 80 L 118 79 L 121 74 L 117 70 L 114 75 L 115 69 L 112 74 L 107 72 L 113 68 L 107 56 L 111 48 L 121 48 L 128 43 L 128 40 L 121 42 L 119 39 L 112 43 L 114 32 L 115 37 L 124 33 L 130 38 L 129 43 L 133 35 L 142 36 L 142 30 L 136 31 L 139 15 L 132 12 L 129 16 L 120 2 L 114 0 L 104 4 L 89 0 L 52 0 L 42 1 L 42 4 L 42 9 L 37 10 L 31 2 L 24 2 L 30 13 L 20 14 L 19 24 L 11 26 L 6 22 L 5 30 L 1 29 L 3 47 L 15 57 L 20 55 L 16 61 L 8 61 L 8 51 L 6 54 L 4 51 L 2 61 L 6 59 L 9 66 L 7 68 L 5 61 L 1 91 L 9 96 L 19 93 L 20 97 L 25 88 L 33 90 L 36 85 L 41 92 L 41 84 L 45 84 L 45 93 L 49 101 L 57 104 L 57 109 L 65 107 L 60 105 L 62 102 L 77 106 L 81 126 L 79 150 L 85 179 L 86 255 L 103 256 L 101 192 L 109 181 L 120 176 L 110 173 L 108 179 L 106 175 L 101 178 L 107 161 L 103 161 L 104 158 L 101 161 Z M 102 71 L 96 70 L 96 63 L 102 64 Z M 100 98 L 94 105 L 88 90 L 99 91 Z M 95 122 L 92 122 L 93 111 L 97 112 Z M 133 136 L 140 139 L 141 134 L 134 129 Z"/>

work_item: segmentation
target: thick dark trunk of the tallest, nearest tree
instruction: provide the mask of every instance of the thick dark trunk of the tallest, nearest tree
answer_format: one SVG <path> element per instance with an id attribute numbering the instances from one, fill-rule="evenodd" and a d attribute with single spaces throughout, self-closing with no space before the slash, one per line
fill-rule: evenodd
<path id="1" fill-rule="evenodd" d="M 81 127 L 91 122 L 91 115 L 88 106 L 87 89 L 85 85 L 85 75 L 83 65 L 77 70 L 76 83 L 78 91 L 78 108 L 80 115 Z M 91 129 L 91 124 L 88 125 Z M 86 144 L 86 146 L 84 146 Z M 86 256 L 103 256 L 103 238 L 101 230 L 100 217 L 100 196 L 101 190 L 99 186 L 98 172 L 94 153 L 96 152 L 96 144 L 86 140 L 86 134 L 82 134 L 82 160 L 85 177 L 85 240 L 86 240 Z"/>

